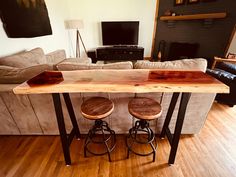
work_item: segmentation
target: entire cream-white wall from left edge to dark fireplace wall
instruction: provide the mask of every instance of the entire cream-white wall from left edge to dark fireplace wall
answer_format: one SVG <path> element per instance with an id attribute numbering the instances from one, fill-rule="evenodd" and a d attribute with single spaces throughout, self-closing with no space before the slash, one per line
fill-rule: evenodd
<path id="1" fill-rule="evenodd" d="M 80 30 L 87 50 L 102 45 L 101 21 L 138 20 L 139 45 L 144 47 L 145 56 L 151 55 L 152 35 L 156 0 L 45 0 L 52 26 L 52 35 L 36 38 L 8 38 L 0 23 L 0 56 L 22 50 L 42 47 L 45 53 L 65 49 L 67 56 L 74 56 L 71 42 L 74 33 L 64 28 L 67 19 L 82 19 Z"/>

